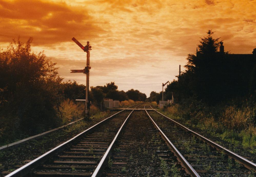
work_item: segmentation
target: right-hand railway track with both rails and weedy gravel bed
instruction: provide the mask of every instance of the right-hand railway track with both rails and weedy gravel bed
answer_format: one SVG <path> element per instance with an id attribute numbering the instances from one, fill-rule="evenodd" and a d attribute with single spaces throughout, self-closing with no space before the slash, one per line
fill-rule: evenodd
<path id="1" fill-rule="evenodd" d="M 248 159 L 189 130 L 156 110 L 145 109 L 145 111 L 172 149 L 172 153 L 166 153 L 164 159 L 169 161 L 175 154 L 187 174 L 191 176 L 248 176 L 251 175 L 250 170 L 256 171 L 256 164 Z"/>

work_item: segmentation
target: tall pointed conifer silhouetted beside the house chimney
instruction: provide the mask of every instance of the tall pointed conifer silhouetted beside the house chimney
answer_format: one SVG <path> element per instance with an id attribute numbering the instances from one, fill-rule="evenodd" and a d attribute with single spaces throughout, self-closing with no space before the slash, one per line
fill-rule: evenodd
<path id="1" fill-rule="evenodd" d="M 207 103 L 215 103 L 221 99 L 220 70 L 223 68 L 224 54 L 217 52 L 220 45 L 219 38 L 212 37 L 212 30 L 208 30 L 207 37 L 201 38 L 196 55 L 187 57 L 185 77 L 189 77 L 192 92 Z"/>

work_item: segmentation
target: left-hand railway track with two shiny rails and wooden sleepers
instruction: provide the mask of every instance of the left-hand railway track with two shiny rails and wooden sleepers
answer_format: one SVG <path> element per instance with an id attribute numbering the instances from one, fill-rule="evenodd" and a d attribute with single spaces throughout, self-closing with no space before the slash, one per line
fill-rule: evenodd
<path id="1" fill-rule="evenodd" d="M 134 109 L 117 112 L 6 176 L 98 176 Z"/>

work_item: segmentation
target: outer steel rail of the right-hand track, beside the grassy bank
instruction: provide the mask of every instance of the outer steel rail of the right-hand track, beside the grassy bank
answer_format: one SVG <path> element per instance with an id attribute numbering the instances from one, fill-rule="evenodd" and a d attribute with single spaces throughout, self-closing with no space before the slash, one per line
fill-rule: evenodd
<path id="1" fill-rule="evenodd" d="M 151 107 L 151 105 L 149 104 L 149 106 Z M 152 107 L 151 107 L 152 108 Z M 152 108 L 154 111 L 158 112 L 157 110 L 155 110 L 154 108 Z M 190 132 L 192 135 L 200 138 L 202 141 L 206 142 L 207 144 L 209 144 L 210 146 L 216 148 L 219 151 L 223 151 L 225 154 L 227 154 L 230 158 L 233 158 L 235 161 L 241 163 L 242 165 L 244 165 L 244 167 L 248 168 L 249 170 L 254 170 L 256 172 L 256 164 L 253 163 L 252 161 L 234 153 L 233 151 L 224 148 L 223 146 L 209 140 L 208 138 L 188 129 L 187 127 L 185 127 L 184 125 L 181 125 L 180 123 L 176 122 L 175 120 L 172 120 L 171 118 L 163 115 L 162 113 L 158 112 L 160 115 L 166 117 L 167 119 L 169 119 L 170 121 L 172 121 L 173 123 L 179 125 L 181 128 L 185 129 L 186 131 Z"/>

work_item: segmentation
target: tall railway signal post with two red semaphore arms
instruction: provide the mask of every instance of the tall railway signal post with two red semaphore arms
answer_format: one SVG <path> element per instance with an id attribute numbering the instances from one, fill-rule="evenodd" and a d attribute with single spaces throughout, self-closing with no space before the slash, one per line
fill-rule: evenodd
<path id="1" fill-rule="evenodd" d="M 90 50 L 91 46 L 89 44 L 89 41 L 87 41 L 86 46 L 83 46 L 80 42 L 78 42 L 75 37 L 72 38 L 72 40 L 86 52 L 86 67 L 84 69 L 75 69 L 71 70 L 70 73 L 84 73 L 86 74 L 86 92 L 85 92 L 85 118 L 89 118 L 89 110 L 88 110 L 88 93 L 89 93 L 89 72 L 90 72 Z"/>

